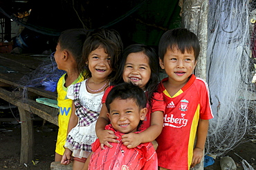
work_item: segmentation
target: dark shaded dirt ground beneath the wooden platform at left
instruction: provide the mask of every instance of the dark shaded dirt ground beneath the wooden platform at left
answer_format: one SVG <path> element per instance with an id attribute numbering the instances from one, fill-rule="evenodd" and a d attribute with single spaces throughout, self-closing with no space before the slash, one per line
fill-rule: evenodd
<path id="1" fill-rule="evenodd" d="M 20 164 L 21 126 L 1 123 L 0 125 L 0 169 L 51 169 L 54 161 L 57 126 L 43 121 L 34 121 L 34 163 Z"/>

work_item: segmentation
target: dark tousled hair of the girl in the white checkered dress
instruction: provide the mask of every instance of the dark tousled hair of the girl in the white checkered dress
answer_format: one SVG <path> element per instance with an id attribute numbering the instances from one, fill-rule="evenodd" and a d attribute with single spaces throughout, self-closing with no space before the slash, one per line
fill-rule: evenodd
<path id="1" fill-rule="evenodd" d="M 116 30 L 107 29 L 96 29 L 90 32 L 87 39 L 84 41 L 82 52 L 83 59 L 80 62 L 80 68 L 84 67 L 85 63 L 88 61 L 89 54 L 98 47 L 103 47 L 106 53 L 111 56 L 110 67 L 112 72 L 109 74 L 109 78 L 113 78 L 118 70 L 117 65 L 122 52 L 120 34 Z M 91 77 L 89 67 L 86 67 L 86 77 Z"/>

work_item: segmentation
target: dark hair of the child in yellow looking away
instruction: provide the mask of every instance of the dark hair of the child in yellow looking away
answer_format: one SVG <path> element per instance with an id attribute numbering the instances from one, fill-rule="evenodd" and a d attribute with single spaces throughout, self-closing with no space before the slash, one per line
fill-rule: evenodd
<path id="1" fill-rule="evenodd" d="M 60 44 L 61 50 L 71 52 L 77 63 L 77 67 L 82 59 L 82 49 L 88 32 L 89 30 L 82 28 L 65 30 L 60 34 L 57 41 Z M 84 69 L 78 71 L 82 72 Z"/>

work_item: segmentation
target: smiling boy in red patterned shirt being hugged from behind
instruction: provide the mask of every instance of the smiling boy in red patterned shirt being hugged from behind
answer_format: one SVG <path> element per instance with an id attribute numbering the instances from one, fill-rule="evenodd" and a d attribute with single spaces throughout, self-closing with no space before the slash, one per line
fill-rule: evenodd
<path id="1" fill-rule="evenodd" d="M 110 143 L 112 147 L 101 149 L 100 140 L 93 145 L 93 152 L 86 160 L 84 169 L 111 169 L 111 170 L 157 170 L 157 156 L 152 142 L 146 142 L 135 148 L 128 149 L 122 144 L 122 135 L 131 132 L 140 133 L 138 127 L 147 114 L 147 99 L 143 89 L 131 83 L 122 83 L 111 89 L 107 96 L 107 116 L 111 124 L 105 129 L 114 131 L 118 136 L 118 143 Z"/>

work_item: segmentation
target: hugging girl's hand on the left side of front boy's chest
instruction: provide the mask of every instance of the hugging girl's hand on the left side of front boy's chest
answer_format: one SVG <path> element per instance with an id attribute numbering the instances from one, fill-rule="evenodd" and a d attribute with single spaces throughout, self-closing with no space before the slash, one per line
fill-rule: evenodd
<path id="1" fill-rule="evenodd" d="M 112 147 L 109 142 L 119 143 L 119 140 L 115 140 L 118 136 L 114 135 L 114 132 L 111 130 L 102 130 L 98 133 L 98 138 L 100 140 L 100 147 L 104 149 L 104 145 L 107 147 Z"/>

